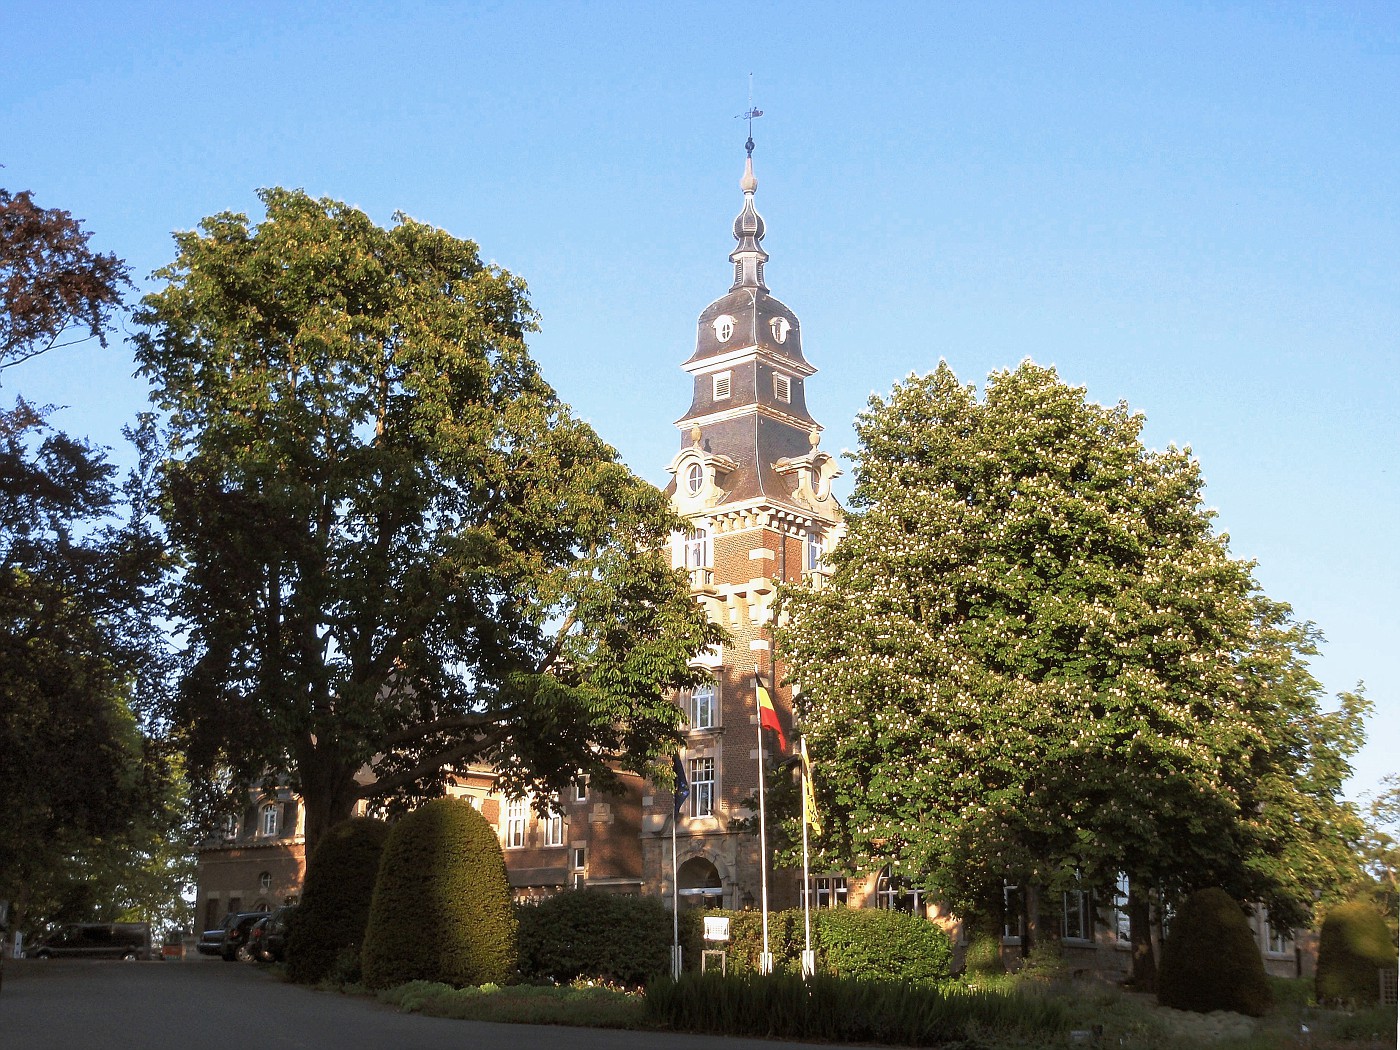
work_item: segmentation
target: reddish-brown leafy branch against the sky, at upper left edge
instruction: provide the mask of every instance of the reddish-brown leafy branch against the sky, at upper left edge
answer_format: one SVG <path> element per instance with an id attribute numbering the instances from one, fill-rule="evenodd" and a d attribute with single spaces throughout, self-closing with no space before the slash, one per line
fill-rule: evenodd
<path id="1" fill-rule="evenodd" d="M 88 248 L 91 237 L 28 190 L 0 189 L 0 370 L 85 339 L 106 346 L 130 280 L 126 263 Z"/>

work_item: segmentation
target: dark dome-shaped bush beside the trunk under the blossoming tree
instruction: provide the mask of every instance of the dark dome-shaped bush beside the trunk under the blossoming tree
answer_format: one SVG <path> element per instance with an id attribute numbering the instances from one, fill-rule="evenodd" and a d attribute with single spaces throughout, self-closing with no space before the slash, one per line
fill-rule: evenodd
<path id="1" fill-rule="evenodd" d="M 1186 899 L 1162 946 L 1158 1002 L 1210 1014 L 1263 1016 L 1273 1002 L 1264 959 L 1239 904 L 1222 889 Z"/>

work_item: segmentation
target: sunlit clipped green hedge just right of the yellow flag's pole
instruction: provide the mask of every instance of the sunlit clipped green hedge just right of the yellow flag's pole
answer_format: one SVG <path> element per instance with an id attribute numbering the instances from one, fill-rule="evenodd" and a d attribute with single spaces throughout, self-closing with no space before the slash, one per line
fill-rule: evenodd
<path id="1" fill-rule="evenodd" d="M 920 916 L 882 909 L 823 909 L 813 914 L 820 969 L 861 980 L 942 980 L 952 939 Z"/>

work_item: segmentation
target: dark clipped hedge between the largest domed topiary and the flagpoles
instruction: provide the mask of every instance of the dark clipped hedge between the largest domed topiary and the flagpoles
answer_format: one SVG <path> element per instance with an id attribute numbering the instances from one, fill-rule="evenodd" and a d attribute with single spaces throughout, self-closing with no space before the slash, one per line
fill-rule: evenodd
<path id="1" fill-rule="evenodd" d="M 671 966 L 671 909 L 658 897 L 567 890 L 517 907 L 525 980 L 640 987 Z"/>

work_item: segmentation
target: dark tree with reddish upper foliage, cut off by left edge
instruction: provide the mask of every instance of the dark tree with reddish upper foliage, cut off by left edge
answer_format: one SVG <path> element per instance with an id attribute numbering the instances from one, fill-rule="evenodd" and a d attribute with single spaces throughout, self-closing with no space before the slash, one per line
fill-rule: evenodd
<path id="1" fill-rule="evenodd" d="M 67 213 L 0 189 L 0 370 L 106 344 L 126 266 Z M 179 770 L 139 710 L 162 680 L 165 567 L 144 514 L 153 433 L 125 484 L 25 400 L 0 410 L 0 897 L 15 925 L 178 923 Z"/>

